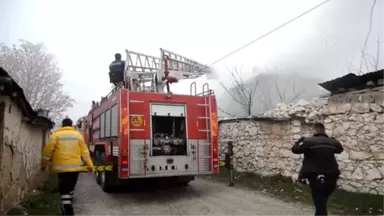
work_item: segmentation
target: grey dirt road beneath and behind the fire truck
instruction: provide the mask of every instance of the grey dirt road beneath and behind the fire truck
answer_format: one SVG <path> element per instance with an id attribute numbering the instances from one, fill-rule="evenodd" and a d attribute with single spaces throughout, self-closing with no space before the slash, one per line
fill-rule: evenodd
<path id="1" fill-rule="evenodd" d="M 79 216 L 313 215 L 308 207 L 206 180 L 193 181 L 187 187 L 107 194 L 90 174 L 80 176 L 74 203 Z"/>

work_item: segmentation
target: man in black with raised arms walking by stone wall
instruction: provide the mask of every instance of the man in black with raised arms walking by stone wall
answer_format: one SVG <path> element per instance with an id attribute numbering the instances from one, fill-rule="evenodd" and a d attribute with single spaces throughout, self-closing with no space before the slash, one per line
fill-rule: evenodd
<path id="1" fill-rule="evenodd" d="M 292 147 L 292 152 L 304 154 L 300 175 L 309 181 L 315 216 L 327 216 L 327 201 L 340 176 L 335 154 L 343 152 L 343 147 L 335 138 L 328 137 L 323 124 L 314 124 L 313 130 L 313 137 L 301 138 Z"/>

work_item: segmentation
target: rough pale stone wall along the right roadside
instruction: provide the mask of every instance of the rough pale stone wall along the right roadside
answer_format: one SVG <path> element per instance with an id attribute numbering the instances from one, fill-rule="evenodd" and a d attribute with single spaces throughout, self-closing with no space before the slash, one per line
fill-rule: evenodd
<path id="1" fill-rule="evenodd" d="M 342 142 L 337 155 L 340 186 L 348 191 L 384 194 L 384 91 L 371 89 L 334 95 L 312 102 L 279 104 L 249 119 L 220 122 L 221 153 L 234 141 L 234 165 L 239 171 L 281 174 L 297 179 L 302 156 L 291 153 L 310 123 L 323 122 L 328 135 Z"/>

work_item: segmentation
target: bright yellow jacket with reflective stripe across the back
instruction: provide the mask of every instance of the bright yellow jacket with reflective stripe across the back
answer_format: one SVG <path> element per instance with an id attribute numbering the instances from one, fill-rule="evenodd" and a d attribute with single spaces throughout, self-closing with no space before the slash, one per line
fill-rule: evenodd
<path id="1" fill-rule="evenodd" d="M 85 171 L 84 164 L 93 169 L 84 138 L 73 127 L 62 127 L 51 135 L 43 150 L 41 167 L 45 168 L 49 162 L 54 172 Z"/>

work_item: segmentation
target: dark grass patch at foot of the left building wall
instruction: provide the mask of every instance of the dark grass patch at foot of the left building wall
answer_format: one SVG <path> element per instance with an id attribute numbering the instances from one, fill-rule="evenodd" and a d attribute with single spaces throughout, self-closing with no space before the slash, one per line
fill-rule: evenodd
<path id="1" fill-rule="evenodd" d="M 49 180 L 38 188 L 38 193 L 28 196 L 18 208 L 7 213 L 7 216 L 59 216 L 59 194 L 57 177 L 51 175 Z M 26 214 L 27 213 L 27 214 Z"/>

